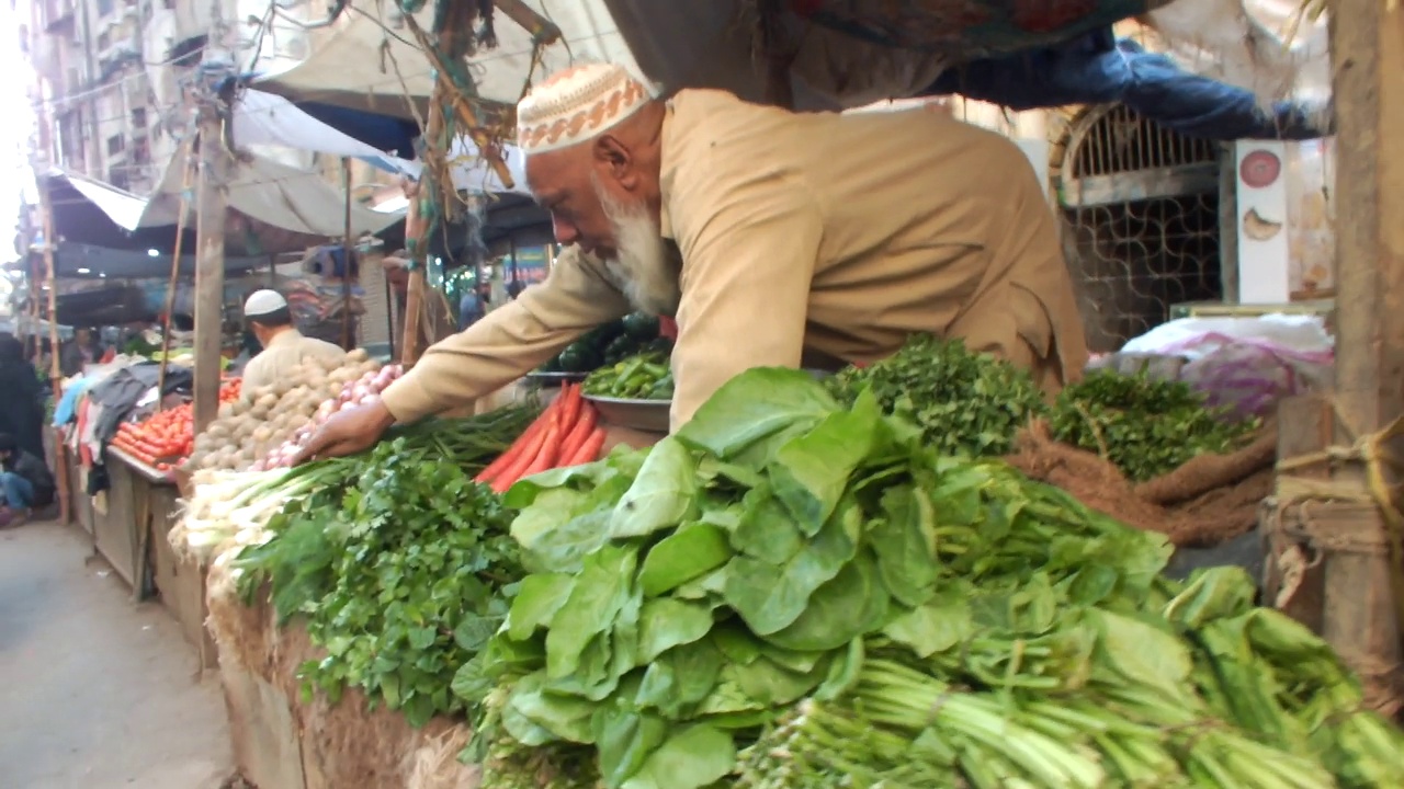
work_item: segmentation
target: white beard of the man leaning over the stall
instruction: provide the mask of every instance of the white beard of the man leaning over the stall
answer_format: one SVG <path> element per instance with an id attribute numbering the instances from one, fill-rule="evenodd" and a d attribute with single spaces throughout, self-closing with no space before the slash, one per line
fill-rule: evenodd
<path id="1" fill-rule="evenodd" d="M 615 257 L 605 260 L 619 289 L 649 314 L 677 313 L 682 300 L 681 265 L 647 208 L 623 205 L 595 183 L 595 195 L 614 229 Z"/>

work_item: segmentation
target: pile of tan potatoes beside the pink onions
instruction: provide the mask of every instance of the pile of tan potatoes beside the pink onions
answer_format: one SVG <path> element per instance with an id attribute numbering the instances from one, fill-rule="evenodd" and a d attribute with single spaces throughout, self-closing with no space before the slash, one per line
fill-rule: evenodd
<path id="1" fill-rule="evenodd" d="M 219 418 L 195 438 L 185 468 L 244 472 L 263 465 L 270 452 L 306 428 L 324 403 L 379 369 L 364 350 L 351 351 L 337 366 L 303 361 L 284 380 L 246 390 L 237 402 L 220 406 Z"/>

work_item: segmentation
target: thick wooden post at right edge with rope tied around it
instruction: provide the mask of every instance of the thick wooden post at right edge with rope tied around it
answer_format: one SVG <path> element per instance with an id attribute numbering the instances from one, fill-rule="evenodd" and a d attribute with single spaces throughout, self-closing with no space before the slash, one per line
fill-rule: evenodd
<path id="1" fill-rule="evenodd" d="M 1382 431 L 1389 438 L 1404 416 L 1404 7 L 1331 0 L 1330 25 L 1338 135 L 1332 442 L 1339 448 Z M 1380 518 L 1362 524 L 1369 539 L 1358 541 L 1375 549 L 1325 553 L 1323 635 L 1367 685 L 1389 694 L 1373 706 L 1397 709 L 1404 524 L 1397 472 L 1372 456 L 1404 458 L 1404 446 L 1398 438 L 1369 444 L 1376 452 L 1356 448 L 1355 462 L 1337 463 L 1332 479 L 1377 503 Z M 1393 552 L 1382 549 L 1390 543 Z"/>

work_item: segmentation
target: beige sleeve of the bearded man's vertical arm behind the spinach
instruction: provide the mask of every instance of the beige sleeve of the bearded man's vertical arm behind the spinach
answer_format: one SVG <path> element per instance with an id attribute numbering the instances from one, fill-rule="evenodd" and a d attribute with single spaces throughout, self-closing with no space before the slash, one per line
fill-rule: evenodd
<path id="1" fill-rule="evenodd" d="M 705 178 L 668 201 L 682 251 L 673 430 L 755 366 L 800 364 L 823 236 L 810 190 L 779 173 Z"/>

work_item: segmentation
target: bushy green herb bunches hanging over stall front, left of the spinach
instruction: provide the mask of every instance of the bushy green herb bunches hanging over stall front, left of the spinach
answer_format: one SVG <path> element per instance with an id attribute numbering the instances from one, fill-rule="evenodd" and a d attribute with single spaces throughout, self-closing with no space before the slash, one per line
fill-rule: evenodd
<path id="1" fill-rule="evenodd" d="M 532 416 L 504 410 L 417 430 L 354 470 L 310 466 L 343 463 L 341 484 L 291 501 L 268 525 L 277 536 L 234 562 L 246 595 L 271 581 L 279 621 L 302 616 L 326 650 L 299 668 L 307 689 L 336 702 L 361 688 L 414 726 L 465 712 L 453 672 L 501 623 L 505 587 L 521 577 L 510 515 L 472 473 L 505 448 L 504 428 L 515 435 Z"/>

